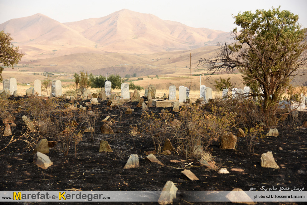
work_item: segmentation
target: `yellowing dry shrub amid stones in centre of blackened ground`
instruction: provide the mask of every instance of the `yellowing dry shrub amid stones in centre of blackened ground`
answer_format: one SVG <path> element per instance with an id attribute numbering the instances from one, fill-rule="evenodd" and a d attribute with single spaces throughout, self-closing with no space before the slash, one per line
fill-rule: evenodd
<path id="1" fill-rule="evenodd" d="M 217 140 L 219 136 L 231 130 L 235 123 L 235 114 L 223 107 L 212 106 L 206 111 L 197 105 L 186 104 L 178 117 L 172 113 L 143 114 L 143 131 L 149 134 L 159 153 L 166 138 L 173 139 L 178 151 L 186 158 L 193 157 L 197 142 L 204 149 Z"/>

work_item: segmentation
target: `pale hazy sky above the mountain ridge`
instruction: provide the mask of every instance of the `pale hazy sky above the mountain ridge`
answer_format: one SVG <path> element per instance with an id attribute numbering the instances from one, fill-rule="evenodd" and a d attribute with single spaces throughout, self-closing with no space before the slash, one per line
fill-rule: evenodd
<path id="1" fill-rule="evenodd" d="M 231 14 L 268 10 L 281 6 L 298 14 L 307 27 L 306 0 L 0 0 L 0 24 L 12 18 L 44 14 L 61 23 L 107 16 L 121 9 L 151 13 L 163 20 L 181 22 L 191 27 L 231 31 L 235 27 Z"/>

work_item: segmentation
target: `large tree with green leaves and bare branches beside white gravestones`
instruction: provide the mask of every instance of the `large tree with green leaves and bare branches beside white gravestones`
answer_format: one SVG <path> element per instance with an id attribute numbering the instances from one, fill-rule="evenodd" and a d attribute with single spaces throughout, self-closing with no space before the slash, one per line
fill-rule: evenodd
<path id="1" fill-rule="evenodd" d="M 254 94 L 264 99 L 266 114 L 281 98 L 290 80 L 302 75 L 307 61 L 306 28 L 301 29 L 299 16 L 290 11 L 256 10 L 233 16 L 241 27 L 233 29 L 236 43 L 219 43 L 220 50 L 212 59 L 199 60 L 207 66 L 208 73 L 228 72 L 238 69 L 243 81 Z M 261 92 L 263 90 L 263 93 Z"/>

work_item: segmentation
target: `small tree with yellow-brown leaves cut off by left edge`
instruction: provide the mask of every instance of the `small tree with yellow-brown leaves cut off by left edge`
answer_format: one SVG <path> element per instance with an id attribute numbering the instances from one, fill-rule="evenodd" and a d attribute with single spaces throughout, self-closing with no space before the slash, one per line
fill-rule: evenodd
<path id="1" fill-rule="evenodd" d="M 24 54 L 18 53 L 19 46 L 14 47 L 11 42 L 13 40 L 10 33 L 4 33 L 3 30 L 0 32 L 0 81 L 2 81 L 3 66 L 12 66 L 13 69 L 14 65 L 24 56 Z"/>

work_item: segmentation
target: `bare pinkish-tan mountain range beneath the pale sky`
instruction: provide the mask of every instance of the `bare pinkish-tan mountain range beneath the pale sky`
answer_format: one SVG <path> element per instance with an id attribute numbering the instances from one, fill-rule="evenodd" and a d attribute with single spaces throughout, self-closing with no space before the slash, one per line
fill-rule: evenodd
<path id="1" fill-rule="evenodd" d="M 204 46 L 208 48 L 202 50 L 208 53 L 209 48 L 214 51 L 212 46 L 216 42 L 229 41 L 230 36 L 229 32 L 193 28 L 127 9 L 101 18 L 66 23 L 37 13 L 4 22 L 0 30 L 11 34 L 13 44 L 25 54 L 22 62 L 34 66 L 34 71 L 54 70 L 50 64 L 56 64 L 58 71 L 69 68 L 73 72 L 124 64 L 138 64 L 137 67 L 144 69 L 158 60 L 157 55 Z M 178 61 L 172 63 L 180 65 L 182 59 L 174 58 Z M 152 66 L 163 67 L 162 64 Z"/>

